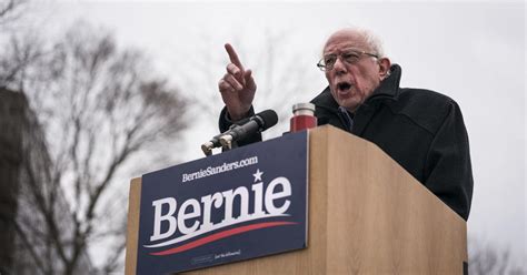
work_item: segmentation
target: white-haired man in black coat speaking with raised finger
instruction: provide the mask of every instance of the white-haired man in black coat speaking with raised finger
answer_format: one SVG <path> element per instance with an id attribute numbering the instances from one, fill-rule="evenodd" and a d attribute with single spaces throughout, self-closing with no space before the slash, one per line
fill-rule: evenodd
<path id="1" fill-rule="evenodd" d="M 252 115 L 257 85 L 235 50 L 218 83 L 226 104 L 220 131 Z M 318 124 L 331 124 L 377 144 L 467 220 L 473 196 L 468 136 L 458 104 L 446 95 L 399 88 L 401 68 L 370 32 L 342 29 L 329 37 L 318 63 L 328 88 L 311 103 Z M 257 134 L 243 145 L 261 141 Z"/>

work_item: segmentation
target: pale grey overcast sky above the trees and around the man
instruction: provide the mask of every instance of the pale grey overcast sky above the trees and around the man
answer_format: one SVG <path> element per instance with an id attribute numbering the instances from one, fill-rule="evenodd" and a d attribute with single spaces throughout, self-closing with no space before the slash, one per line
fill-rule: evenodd
<path id="1" fill-rule="evenodd" d="M 51 33 L 79 18 L 106 27 L 120 44 L 147 50 L 176 84 L 192 75 L 195 55 L 203 54 L 197 49 L 208 48 L 215 60 L 227 62 L 223 43 L 238 41 L 235 48 L 251 68 L 265 34 L 284 33 L 288 35 L 280 48 L 285 57 L 298 54 L 298 64 L 307 69 L 309 81 L 304 83 L 306 90 L 298 91 L 300 101 L 309 101 L 326 85 L 314 64 L 327 35 L 349 26 L 371 29 L 384 40 L 392 62 L 402 67 L 401 86 L 435 90 L 461 106 L 475 179 L 469 236 L 510 247 L 517 259 L 527 258 L 524 2 L 72 1 L 47 2 L 36 14 L 39 19 L 33 23 L 42 23 Z M 213 92 L 222 74 L 223 68 L 211 62 L 210 82 L 203 81 L 199 91 L 181 89 L 208 91 L 215 96 L 203 100 L 220 102 Z M 257 81 L 258 75 L 255 71 Z M 265 95 L 265 90 L 258 90 L 258 100 Z M 276 106 L 259 106 L 269 108 Z M 287 131 L 288 118 L 280 120 L 268 138 Z M 216 121 L 196 122 L 187 133 L 182 160 L 202 157 L 200 144 L 216 134 Z"/>

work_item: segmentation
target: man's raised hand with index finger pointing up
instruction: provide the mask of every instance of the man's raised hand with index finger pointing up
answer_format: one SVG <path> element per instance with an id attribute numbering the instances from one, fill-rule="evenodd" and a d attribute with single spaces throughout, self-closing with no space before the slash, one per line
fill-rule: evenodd
<path id="1" fill-rule="evenodd" d="M 243 70 L 232 45 L 227 43 L 225 49 L 229 54 L 230 63 L 227 65 L 227 73 L 219 80 L 218 88 L 230 119 L 238 121 L 247 115 L 252 105 L 256 83 L 251 71 Z"/>

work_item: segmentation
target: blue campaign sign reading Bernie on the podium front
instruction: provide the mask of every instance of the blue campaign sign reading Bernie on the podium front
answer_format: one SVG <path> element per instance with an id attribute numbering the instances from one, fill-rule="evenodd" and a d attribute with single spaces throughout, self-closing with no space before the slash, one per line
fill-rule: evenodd
<path id="1" fill-rule="evenodd" d="M 137 274 L 307 246 L 307 132 L 142 176 Z"/>

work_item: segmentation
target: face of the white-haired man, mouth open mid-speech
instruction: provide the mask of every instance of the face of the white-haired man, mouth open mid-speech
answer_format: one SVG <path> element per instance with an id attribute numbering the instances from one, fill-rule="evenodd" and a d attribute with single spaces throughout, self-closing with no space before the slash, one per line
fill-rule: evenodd
<path id="1" fill-rule="evenodd" d="M 336 32 L 324 48 L 324 57 L 338 57 L 334 67 L 326 70 L 331 94 L 339 105 L 355 112 L 379 85 L 386 70 L 377 58 L 366 54 L 359 54 L 356 62 L 348 63 L 340 55 L 347 52 L 377 53 L 367 47 L 361 35 L 350 31 Z"/>

